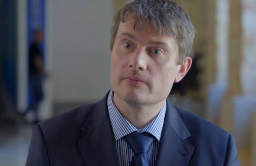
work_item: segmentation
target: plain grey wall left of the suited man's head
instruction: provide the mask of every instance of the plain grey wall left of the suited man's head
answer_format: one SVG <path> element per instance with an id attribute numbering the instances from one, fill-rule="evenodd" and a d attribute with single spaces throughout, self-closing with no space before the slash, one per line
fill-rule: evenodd
<path id="1" fill-rule="evenodd" d="M 52 14 L 55 102 L 99 100 L 110 88 L 110 27 L 113 2 L 102 0 L 48 1 Z M 49 24 L 49 22 L 48 22 Z"/>

